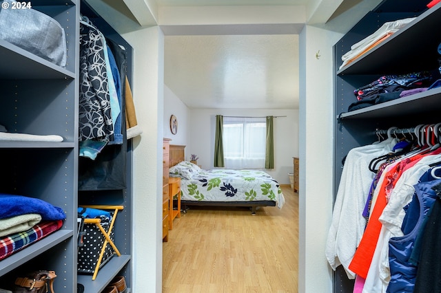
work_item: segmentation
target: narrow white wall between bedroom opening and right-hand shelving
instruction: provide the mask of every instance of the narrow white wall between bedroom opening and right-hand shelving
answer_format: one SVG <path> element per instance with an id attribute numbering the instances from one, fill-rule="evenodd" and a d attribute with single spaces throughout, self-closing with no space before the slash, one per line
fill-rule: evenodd
<path id="1" fill-rule="evenodd" d="M 333 204 L 333 45 L 341 35 L 305 26 L 300 34 L 298 292 L 332 292 L 325 246 Z M 320 58 L 316 52 L 320 50 Z"/>

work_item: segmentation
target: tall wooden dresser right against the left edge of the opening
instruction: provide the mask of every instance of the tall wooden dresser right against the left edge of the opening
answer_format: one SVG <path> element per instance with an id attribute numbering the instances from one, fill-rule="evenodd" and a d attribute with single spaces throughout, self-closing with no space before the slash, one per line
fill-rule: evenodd
<path id="1" fill-rule="evenodd" d="M 163 241 L 168 241 L 169 220 L 169 169 L 170 169 L 170 138 L 163 140 Z"/>

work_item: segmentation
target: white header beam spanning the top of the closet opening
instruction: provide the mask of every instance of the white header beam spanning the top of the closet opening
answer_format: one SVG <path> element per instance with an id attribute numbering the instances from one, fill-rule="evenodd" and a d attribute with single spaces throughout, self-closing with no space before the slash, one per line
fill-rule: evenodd
<path id="1" fill-rule="evenodd" d="M 304 6 L 182 6 L 159 8 L 165 35 L 298 34 Z"/>

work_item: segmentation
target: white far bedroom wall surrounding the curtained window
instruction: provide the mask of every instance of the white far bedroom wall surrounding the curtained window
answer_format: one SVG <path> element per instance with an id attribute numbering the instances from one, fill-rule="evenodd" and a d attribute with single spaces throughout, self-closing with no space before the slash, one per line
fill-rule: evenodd
<path id="1" fill-rule="evenodd" d="M 279 184 L 289 184 L 288 173 L 293 172 L 293 157 L 298 156 L 298 110 L 287 109 L 192 109 L 190 110 L 190 142 L 185 149 L 188 159 L 198 155 L 203 169 L 212 169 L 214 160 L 214 135 L 216 115 L 224 116 L 287 116 L 274 120 L 274 170 L 267 173 Z"/>

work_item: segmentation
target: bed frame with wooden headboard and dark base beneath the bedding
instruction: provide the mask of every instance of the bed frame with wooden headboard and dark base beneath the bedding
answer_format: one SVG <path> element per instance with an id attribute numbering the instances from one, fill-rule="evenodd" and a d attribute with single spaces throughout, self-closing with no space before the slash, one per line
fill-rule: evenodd
<path id="1" fill-rule="evenodd" d="M 185 161 L 185 146 L 170 144 L 170 167 Z M 252 215 L 256 215 L 256 210 L 260 206 L 276 206 L 276 202 L 271 200 L 260 200 L 255 202 L 199 202 L 192 200 L 182 200 L 181 206 L 186 210 L 187 206 L 245 206 L 249 207 Z"/>

